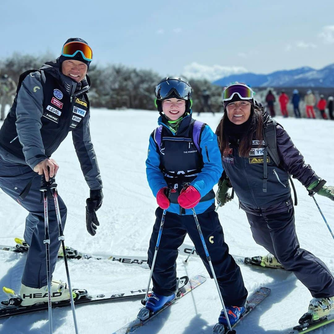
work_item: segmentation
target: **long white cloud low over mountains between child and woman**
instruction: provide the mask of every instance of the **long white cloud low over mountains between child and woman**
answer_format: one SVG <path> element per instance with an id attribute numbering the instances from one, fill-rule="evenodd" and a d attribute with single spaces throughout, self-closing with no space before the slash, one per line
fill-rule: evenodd
<path id="1" fill-rule="evenodd" d="M 191 64 L 184 66 L 182 74 L 189 79 L 207 79 L 209 81 L 214 81 L 226 75 L 245 72 L 247 72 L 247 69 L 241 66 L 207 66 L 194 61 Z"/>

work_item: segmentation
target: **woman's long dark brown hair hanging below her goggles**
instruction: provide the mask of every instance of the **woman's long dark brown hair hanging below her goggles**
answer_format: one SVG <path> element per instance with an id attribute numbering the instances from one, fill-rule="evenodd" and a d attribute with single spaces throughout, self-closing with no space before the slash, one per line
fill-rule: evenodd
<path id="1" fill-rule="evenodd" d="M 255 138 L 259 140 L 260 144 L 263 140 L 263 113 L 264 109 L 263 107 L 258 106 L 257 104 L 252 105 L 251 110 L 251 124 L 249 125 L 248 129 L 244 132 L 244 134 L 241 136 L 239 141 L 239 149 L 238 153 L 240 157 L 247 157 L 249 155 L 249 151 L 252 149 L 252 140 Z M 230 124 L 230 121 L 227 118 L 227 112 L 225 110 L 224 116 L 220 120 L 217 129 L 216 129 L 216 135 L 218 137 L 218 145 L 221 154 L 223 154 L 224 151 L 228 149 L 228 143 L 229 143 L 229 135 L 230 131 L 228 131 L 228 126 Z"/>

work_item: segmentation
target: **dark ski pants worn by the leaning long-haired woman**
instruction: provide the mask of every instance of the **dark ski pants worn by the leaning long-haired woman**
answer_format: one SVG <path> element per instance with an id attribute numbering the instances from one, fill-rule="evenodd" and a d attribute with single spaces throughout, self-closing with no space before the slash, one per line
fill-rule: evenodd
<path id="1" fill-rule="evenodd" d="M 253 238 L 273 254 L 282 266 L 293 272 L 314 298 L 334 296 L 334 278 L 326 265 L 299 247 L 295 228 L 295 212 L 256 216 L 246 213 Z"/>

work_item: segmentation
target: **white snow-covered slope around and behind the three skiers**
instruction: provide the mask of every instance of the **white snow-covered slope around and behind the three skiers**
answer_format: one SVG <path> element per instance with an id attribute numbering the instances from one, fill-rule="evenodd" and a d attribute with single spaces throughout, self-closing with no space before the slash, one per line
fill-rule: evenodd
<path id="1" fill-rule="evenodd" d="M 90 253 L 124 255 L 147 254 L 149 238 L 155 220 L 156 201 L 148 187 L 145 159 L 150 133 L 156 127 L 157 112 L 140 110 L 111 111 L 93 109 L 91 134 L 102 173 L 104 201 L 98 211 L 100 227 L 96 236 L 86 231 L 85 200 L 89 196 L 72 145 L 71 136 L 60 145 L 53 158 L 60 169 L 56 181 L 58 191 L 68 207 L 65 244 Z M 222 115 L 201 114 L 199 120 L 215 130 Z M 278 121 L 291 135 L 316 173 L 334 184 L 333 127 L 334 122 L 308 119 Z M 1 124 L 0 124 L 1 125 Z M 305 188 L 295 181 L 298 193 L 296 227 L 301 246 L 320 257 L 334 272 L 331 237 L 317 207 Z M 216 188 L 216 187 L 215 187 Z M 328 223 L 334 229 L 334 203 L 316 197 Z M 23 237 L 26 211 L 0 190 L 0 244 L 12 245 L 14 237 Z M 266 254 L 251 236 L 246 215 L 238 209 L 235 198 L 219 211 L 225 241 L 230 253 L 242 256 Z M 187 243 L 190 239 L 186 238 Z M 192 258 L 188 266 L 177 260 L 178 275 L 201 274 L 207 281 L 163 312 L 136 333 L 200 334 L 211 333 L 221 305 L 213 280 L 199 259 Z M 25 256 L 0 251 L 0 286 L 16 291 Z M 69 270 L 72 286 L 86 288 L 91 293 L 119 292 L 122 289 L 146 287 L 149 270 L 139 265 L 123 265 L 108 260 L 71 260 Z M 281 270 L 262 270 L 241 266 L 249 293 L 261 286 L 272 289 L 271 295 L 243 323 L 238 334 L 286 334 L 307 311 L 311 295 L 293 274 Z M 54 278 L 66 280 L 63 261 L 58 261 Z M 5 295 L 1 292 L 1 299 Z M 80 333 L 113 333 L 134 319 L 141 308 L 139 300 L 76 307 Z M 70 308 L 53 310 L 54 333 L 74 333 Z M 0 320 L 0 333 L 48 333 L 47 312 Z M 334 324 L 316 333 L 334 333 Z"/>

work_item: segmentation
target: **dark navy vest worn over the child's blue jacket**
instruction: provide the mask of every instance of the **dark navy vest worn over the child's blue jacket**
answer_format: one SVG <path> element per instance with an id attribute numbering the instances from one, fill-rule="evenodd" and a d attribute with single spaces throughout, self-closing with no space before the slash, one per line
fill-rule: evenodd
<path id="1" fill-rule="evenodd" d="M 191 115 L 186 116 L 175 136 L 166 126 L 162 126 L 160 147 L 157 144 L 157 152 L 160 154 L 159 168 L 167 184 L 171 184 L 177 191 L 170 195 L 170 202 L 174 204 L 178 204 L 177 198 L 182 190 L 182 184 L 192 182 L 203 167 L 202 154 L 194 143 L 194 122 Z M 205 124 L 202 125 L 199 138 L 204 126 Z M 154 133 L 152 135 L 154 139 Z M 201 198 L 200 202 L 208 201 L 214 197 L 215 194 L 211 189 Z"/>

